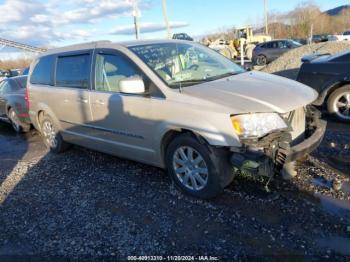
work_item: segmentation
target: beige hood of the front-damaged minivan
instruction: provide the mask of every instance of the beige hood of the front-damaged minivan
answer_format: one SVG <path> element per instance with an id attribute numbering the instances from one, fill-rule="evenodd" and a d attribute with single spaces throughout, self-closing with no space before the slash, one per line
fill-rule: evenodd
<path id="1" fill-rule="evenodd" d="M 262 72 L 184 87 L 183 93 L 230 108 L 233 114 L 287 113 L 312 103 L 318 96 L 306 85 Z"/>

